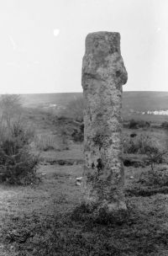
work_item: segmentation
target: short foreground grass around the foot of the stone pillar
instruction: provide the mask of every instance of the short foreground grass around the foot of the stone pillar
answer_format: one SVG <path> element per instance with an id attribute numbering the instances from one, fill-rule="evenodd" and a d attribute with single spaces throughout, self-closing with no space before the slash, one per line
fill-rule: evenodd
<path id="1" fill-rule="evenodd" d="M 1 243 L 13 248 L 7 255 L 167 255 L 166 195 L 128 197 L 126 220 L 107 226 L 79 206 L 82 166 L 42 166 L 40 173 L 39 186 L 1 188 Z"/>

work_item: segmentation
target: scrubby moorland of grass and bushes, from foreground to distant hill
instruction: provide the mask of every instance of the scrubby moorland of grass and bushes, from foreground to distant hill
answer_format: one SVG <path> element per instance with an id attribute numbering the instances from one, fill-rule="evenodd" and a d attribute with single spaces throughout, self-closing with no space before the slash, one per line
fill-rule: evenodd
<path id="1" fill-rule="evenodd" d="M 123 120 L 128 211 L 124 221 L 109 221 L 103 212 L 92 216 L 76 185 L 84 163 L 81 99 L 58 115 L 10 97 L 16 113 L 5 107 L 10 115 L 2 112 L 1 122 L 1 170 L 11 175 L 0 185 L 1 255 L 167 255 L 166 125 Z"/>

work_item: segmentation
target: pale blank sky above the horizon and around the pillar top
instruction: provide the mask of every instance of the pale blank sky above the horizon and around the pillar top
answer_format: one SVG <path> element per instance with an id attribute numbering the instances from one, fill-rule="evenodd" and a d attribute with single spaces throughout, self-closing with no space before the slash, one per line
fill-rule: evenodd
<path id="1" fill-rule="evenodd" d="M 0 93 L 81 92 L 86 35 L 118 31 L 123 90 L 168 91 L 167 0 L 0 1 Z"/>

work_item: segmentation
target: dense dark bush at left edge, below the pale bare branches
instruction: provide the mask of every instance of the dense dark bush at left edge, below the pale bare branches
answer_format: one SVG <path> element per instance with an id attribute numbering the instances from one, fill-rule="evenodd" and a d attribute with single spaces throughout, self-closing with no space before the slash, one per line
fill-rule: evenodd
<path id="1" fill-rule="evenodd" d="M 31 132 L 15 122 L 1 134 L 0 178 L 8 184 L 30 184 L 37 181 L 39 156 L 30 152 Z"/>

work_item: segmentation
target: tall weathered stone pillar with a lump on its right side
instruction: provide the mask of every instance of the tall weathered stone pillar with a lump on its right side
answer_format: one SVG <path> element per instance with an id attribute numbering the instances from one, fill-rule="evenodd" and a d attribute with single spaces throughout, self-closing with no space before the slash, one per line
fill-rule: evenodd
<path id="1" fill-rule="evenodd" d="M 121 141 L 122 85 L 126 82 L 120 35 L 87 35 L 81 81 L 85 102 L 85 196 L 87 203 L 96 203 L 108 212 L 126 209 Z"/>

